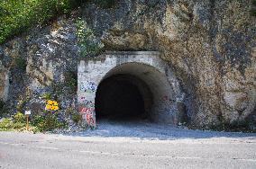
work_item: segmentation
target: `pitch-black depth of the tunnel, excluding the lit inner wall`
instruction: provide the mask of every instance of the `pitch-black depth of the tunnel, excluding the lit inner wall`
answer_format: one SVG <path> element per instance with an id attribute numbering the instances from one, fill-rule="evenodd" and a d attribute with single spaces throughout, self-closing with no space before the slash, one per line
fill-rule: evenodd
<path id="1" fill-rule="evenodd" d="M 130 75 L 114 75 L 104 79 L 96 91 L 96 119 L 146 119 L 145 99 L 140 86 L 147 88 L 139 78 Z"/>

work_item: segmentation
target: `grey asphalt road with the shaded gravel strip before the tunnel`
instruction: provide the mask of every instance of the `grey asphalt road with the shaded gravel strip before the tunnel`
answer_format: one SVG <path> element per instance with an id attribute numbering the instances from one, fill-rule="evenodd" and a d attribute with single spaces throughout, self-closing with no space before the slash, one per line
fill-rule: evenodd
<path id="1" fill-rule="evenodd" d="M 125 136 L 120 126 L 119 136 L 110 136 L 111 129 L 69 136 L 0 132 L 0 168 L 256 168 L 255 134 L 164 128 L 161 138 L 140 137 L 147 129 L 140 126 Z"/>

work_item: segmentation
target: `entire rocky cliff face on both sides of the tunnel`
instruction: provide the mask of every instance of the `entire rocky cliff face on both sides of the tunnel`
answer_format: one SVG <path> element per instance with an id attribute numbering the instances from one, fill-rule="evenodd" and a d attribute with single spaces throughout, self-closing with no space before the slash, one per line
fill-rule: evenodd
<path id="1" fill-rule="evenodd" d="M 251 121 L 255 129 L 256 19 L 251 5 L 245 0 L 128 0 L 113 9 L 87 4 L 80 13 L 106 50 L 162 53 L 186 93 L 183 102 L 191 126 Z M 15 103 L 19 90 L 29 86 L 40 92 L 63 81 L 64 72 L 77 67 L 75 20 L 60 18 L 2 45 L 0 71 L 5 78 L 1 76 L 0 93 L 9 91 L 8 99 Z M 22 83 L 14 78 L 15 57 L 26 60 Z"/>

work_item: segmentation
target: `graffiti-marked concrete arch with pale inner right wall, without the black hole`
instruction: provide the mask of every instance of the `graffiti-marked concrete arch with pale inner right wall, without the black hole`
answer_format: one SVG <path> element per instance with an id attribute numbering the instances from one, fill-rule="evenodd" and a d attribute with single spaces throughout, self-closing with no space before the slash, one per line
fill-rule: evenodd
<path id="1" fill-rule="evenodd" d="M 145 111 L 152 121 L 176 125 L 182 99 L 177 78 L 157 51 L 106 52 L 78 65 L 78 104 L 83 119 L 96 125 L 97 86 L 106 78 L 126 75 L 142 93 Z M 129 76 L 129 77 L 128 77 Z"/>

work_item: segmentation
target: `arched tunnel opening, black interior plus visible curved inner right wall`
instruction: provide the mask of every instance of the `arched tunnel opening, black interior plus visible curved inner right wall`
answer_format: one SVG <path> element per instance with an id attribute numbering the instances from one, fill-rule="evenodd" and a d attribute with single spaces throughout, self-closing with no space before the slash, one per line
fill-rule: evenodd
<path id="1" fill-rule="evenodd" d="M 173 89 L 167 76 L 141 63 L 112 68 L 97 85 L 96 120 L 151 120 L 173 123 Z"/>

